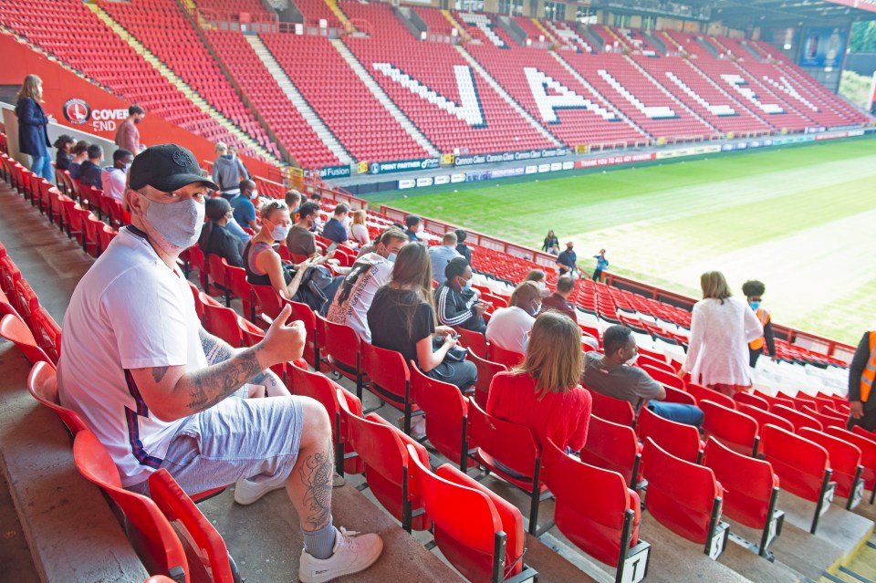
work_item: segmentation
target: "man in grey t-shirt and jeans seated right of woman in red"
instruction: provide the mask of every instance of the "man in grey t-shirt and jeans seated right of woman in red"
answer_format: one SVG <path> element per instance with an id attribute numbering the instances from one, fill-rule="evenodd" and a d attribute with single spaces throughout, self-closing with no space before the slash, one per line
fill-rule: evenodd
<path id="1" fill-rule="evenodd" d="M 599 352 L 584 354 L 584 375 L 582 384 L 589 390 L 630 401 L 636 416 L 643 403 L 663 419 L 699 427 L 703 424 L 703 411 L 695 405 L 668 403 L 666 390 L 656 380 L 639 367 L 631 366 L 639 356 L 636 338 L 631 328 L 610 326 L 602 334 L 602 347 L 605 355 Z"/>

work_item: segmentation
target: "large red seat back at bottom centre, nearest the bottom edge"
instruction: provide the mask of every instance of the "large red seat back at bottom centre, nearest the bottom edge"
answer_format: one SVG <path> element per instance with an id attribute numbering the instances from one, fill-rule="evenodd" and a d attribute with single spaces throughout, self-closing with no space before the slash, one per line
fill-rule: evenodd
<path id="1" fill-rule="evenodd" d="M 494 566 L 495 537 L 506 536 L 503 580 L 522 570 L 525 535 L 523 516 L 514 505 L 478 484 L 449 463 L 433 474 L 412 446 L 415 493 L 434 523 L 435 543 L 469 581 L 489 581 Z"/>

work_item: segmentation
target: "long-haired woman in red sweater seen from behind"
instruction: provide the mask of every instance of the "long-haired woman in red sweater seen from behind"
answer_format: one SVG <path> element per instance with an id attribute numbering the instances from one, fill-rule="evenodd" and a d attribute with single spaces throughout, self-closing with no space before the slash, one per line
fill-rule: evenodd
<path id="1" fill-rule="evenodd" d="M 526 425 L 542 445 L 579 452 L 587 441 L 591 399 L 581 387 L 581 332 L 559 312 L 547 311 L 532 326 L 527 358 L 493 377 L 486 412 Z"/>

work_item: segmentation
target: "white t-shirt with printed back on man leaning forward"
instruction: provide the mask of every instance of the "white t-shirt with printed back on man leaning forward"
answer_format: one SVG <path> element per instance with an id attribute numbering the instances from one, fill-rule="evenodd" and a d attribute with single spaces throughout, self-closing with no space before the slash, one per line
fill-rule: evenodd
<path id="1" fill-rule="evenodd" d="M 370 269 L 362 275 L 360 272 L 369 265 Z M 357 269 L 360 271 L 357 272 Z M 350 268 L 348 278 L 350 276 L 354 277 L 356 281 L 349 292 L 349 296 L 343 303 L 339 302 L 347 283 L 347 280 L 345 280 L 339 286 L 335 298 L 331 302 L 331 307 L 328 308 L 326 318 L 329 322 L 334 322 L 335 324 L 346 324 L 356 330 L 359 338 L 370 342 L 371 331 L 368 328 L 368 308 L 371 307 L 371 301 L 374 299 L 374 294 L 377 293 L 377 290 L 390 283 L 392 279 L 392 263 L 389 259 L 376 253 L 362 255 Z"/>

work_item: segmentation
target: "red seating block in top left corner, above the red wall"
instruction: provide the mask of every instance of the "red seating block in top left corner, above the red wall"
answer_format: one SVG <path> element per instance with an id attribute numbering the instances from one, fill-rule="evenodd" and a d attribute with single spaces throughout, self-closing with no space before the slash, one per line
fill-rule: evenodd
<path id="1" fill-rule="evenodd" d="M 0 24 L 162 119 L 207 140 L 234 144 L 241 153 L 255 153 L 198 109 L 82 3 L 0 0 Z"/>

